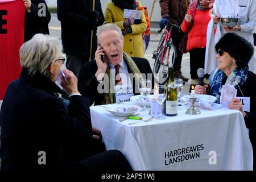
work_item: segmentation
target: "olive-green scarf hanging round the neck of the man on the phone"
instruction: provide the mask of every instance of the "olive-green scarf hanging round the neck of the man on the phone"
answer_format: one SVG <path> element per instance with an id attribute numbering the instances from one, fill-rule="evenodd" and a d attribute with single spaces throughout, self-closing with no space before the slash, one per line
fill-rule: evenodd
<path id="1" fill-rule="evenodd" d="M 135 86 L 139 85 L 139 80 L 143 79 L 143 77 L 141 75 L 141 72 L 139 71 L 139 68 L 135 64 L 134 60 L 131 59 L 131 57 L 129 55 L 127 55 L 127 53 L 125 53 L 125 52 L 123 52 L 123 60 L 127 64 L 127 67 L 130 68 L 131 73 L 133 73 L 134 80 L 135 80 Z M 133 82 L 132 77 L 130 79 Z M 108 93 L 104 93 L 104 100 L 101 101 L 101 105 L 115 103 L 115 89 L 114 89 L 115 88 L 115 84 L 114 84 L 115 80 L 114 80 L 112 74 L 110 73 L 109 64 L 106 69 L 103 82 L 104 82 L 103 83 L 104 86 L 108 87 Z"/>

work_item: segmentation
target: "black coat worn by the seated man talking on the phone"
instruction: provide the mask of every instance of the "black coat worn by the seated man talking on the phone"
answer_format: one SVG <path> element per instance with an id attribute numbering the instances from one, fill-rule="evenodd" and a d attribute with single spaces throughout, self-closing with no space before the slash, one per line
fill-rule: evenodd
<path id="1" fill-rule="evenodd" d="M 148 73 L 152 74 L 152 69 L 146 59 L 143 59 L 140 57 L 133 57 L 133 60 L 141 73 L 145 73 L 146 76 Z M 82 94 L 82 96 L 89 98 L 90 105 L 92 105 L 93 102 L 95 102 L 94 105 L 101 105 L 101 101 L 104 99 L 104 94 L 100 94 L 97 91 L 97 86 L 99 84 L 95 76 L 97 69 L 98 67 L 97 67 L 96 61 L 95 60 L 91 61 L 90 63 L 86 63 L 82 65 L 80 76 L 79 76 L 79 92 Z M 129 67 L 128 67 L 128 72 L 131 73 Z M 151 76 L 152 76 L 152 80 L 154 80 L 153 74 Z M 131 82 L 135 84 L 134 80 Z M 152 81 L 152 86 L 154 86 L 153 83 L 154 82 Z M 135 93 L 135 86 L 138 87 L 138 85 L 133 85 L 133 93 L 136 95 L 139 93 Z"/>

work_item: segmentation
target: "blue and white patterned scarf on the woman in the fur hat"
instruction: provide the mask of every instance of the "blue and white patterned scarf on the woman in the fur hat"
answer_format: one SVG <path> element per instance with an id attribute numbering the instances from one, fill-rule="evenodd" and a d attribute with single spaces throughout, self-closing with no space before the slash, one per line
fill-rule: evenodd
<path id="1" fill-rule="evenodd" d="M 221 90 L 221 82 L 225 73 L 218 68 L 213 72 L 212 81 L 210 85 L 210 95 L 215 96 L 217 98 L 216 103 L 220 104 L 220 90 Z M 241 86 L 244 82 L 246 82 L 248 76 L 248 67 L 243 68 L 235 68 L 233 72 L 229 75 L 226 80 L 226 84 L 234 85 L 234 88 L 238 89 L 238 86 Z"/>

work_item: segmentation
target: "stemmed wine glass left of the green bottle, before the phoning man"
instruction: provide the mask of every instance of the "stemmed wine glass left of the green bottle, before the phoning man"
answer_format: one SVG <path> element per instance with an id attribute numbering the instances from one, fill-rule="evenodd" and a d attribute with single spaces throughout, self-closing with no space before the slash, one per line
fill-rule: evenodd
<path id="1" fill-rule="evenodd" d="M 139 81 L 139 93 L 141 93 L 141 96 L 144 100 L 143 109 L 141 110 L 142 112 L 148 112 L 150 110 L 146 108 L 146 98 L 150 93 L 151 88 L 152 88 L 152 85 L 150 80 Z"/>

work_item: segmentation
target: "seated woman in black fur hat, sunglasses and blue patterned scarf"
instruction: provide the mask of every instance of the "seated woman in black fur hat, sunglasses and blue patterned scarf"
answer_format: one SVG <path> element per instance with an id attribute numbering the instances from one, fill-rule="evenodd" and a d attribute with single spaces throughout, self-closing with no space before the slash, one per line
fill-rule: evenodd
<path id="1" fill-rule="evenodd" d="M 241 36 L 233 33 L 225 34 L 215 46 L 218 68 L 210 74 L 210 85 L 196 85 L 197 94 L 206 94 L 207 90 L 217 97 L 220 103 L 220 90 L 222 85 L 231 84 L 237 89 L 237 97 L 250 98 L 250 112 L 243 111 L 240 100 L 233 98 L 228 104 L 229 109 L 238 109 L 245 118 L 245 125 L 249 129 L 249 137 L 256 151 L 256 75 L 249 71 L 248 63 L 253 56 L 253 46 Z M 210 88 L 209 88 L 210 87 Z M 255 166 L 255 164 L 254 164 Z"/>

